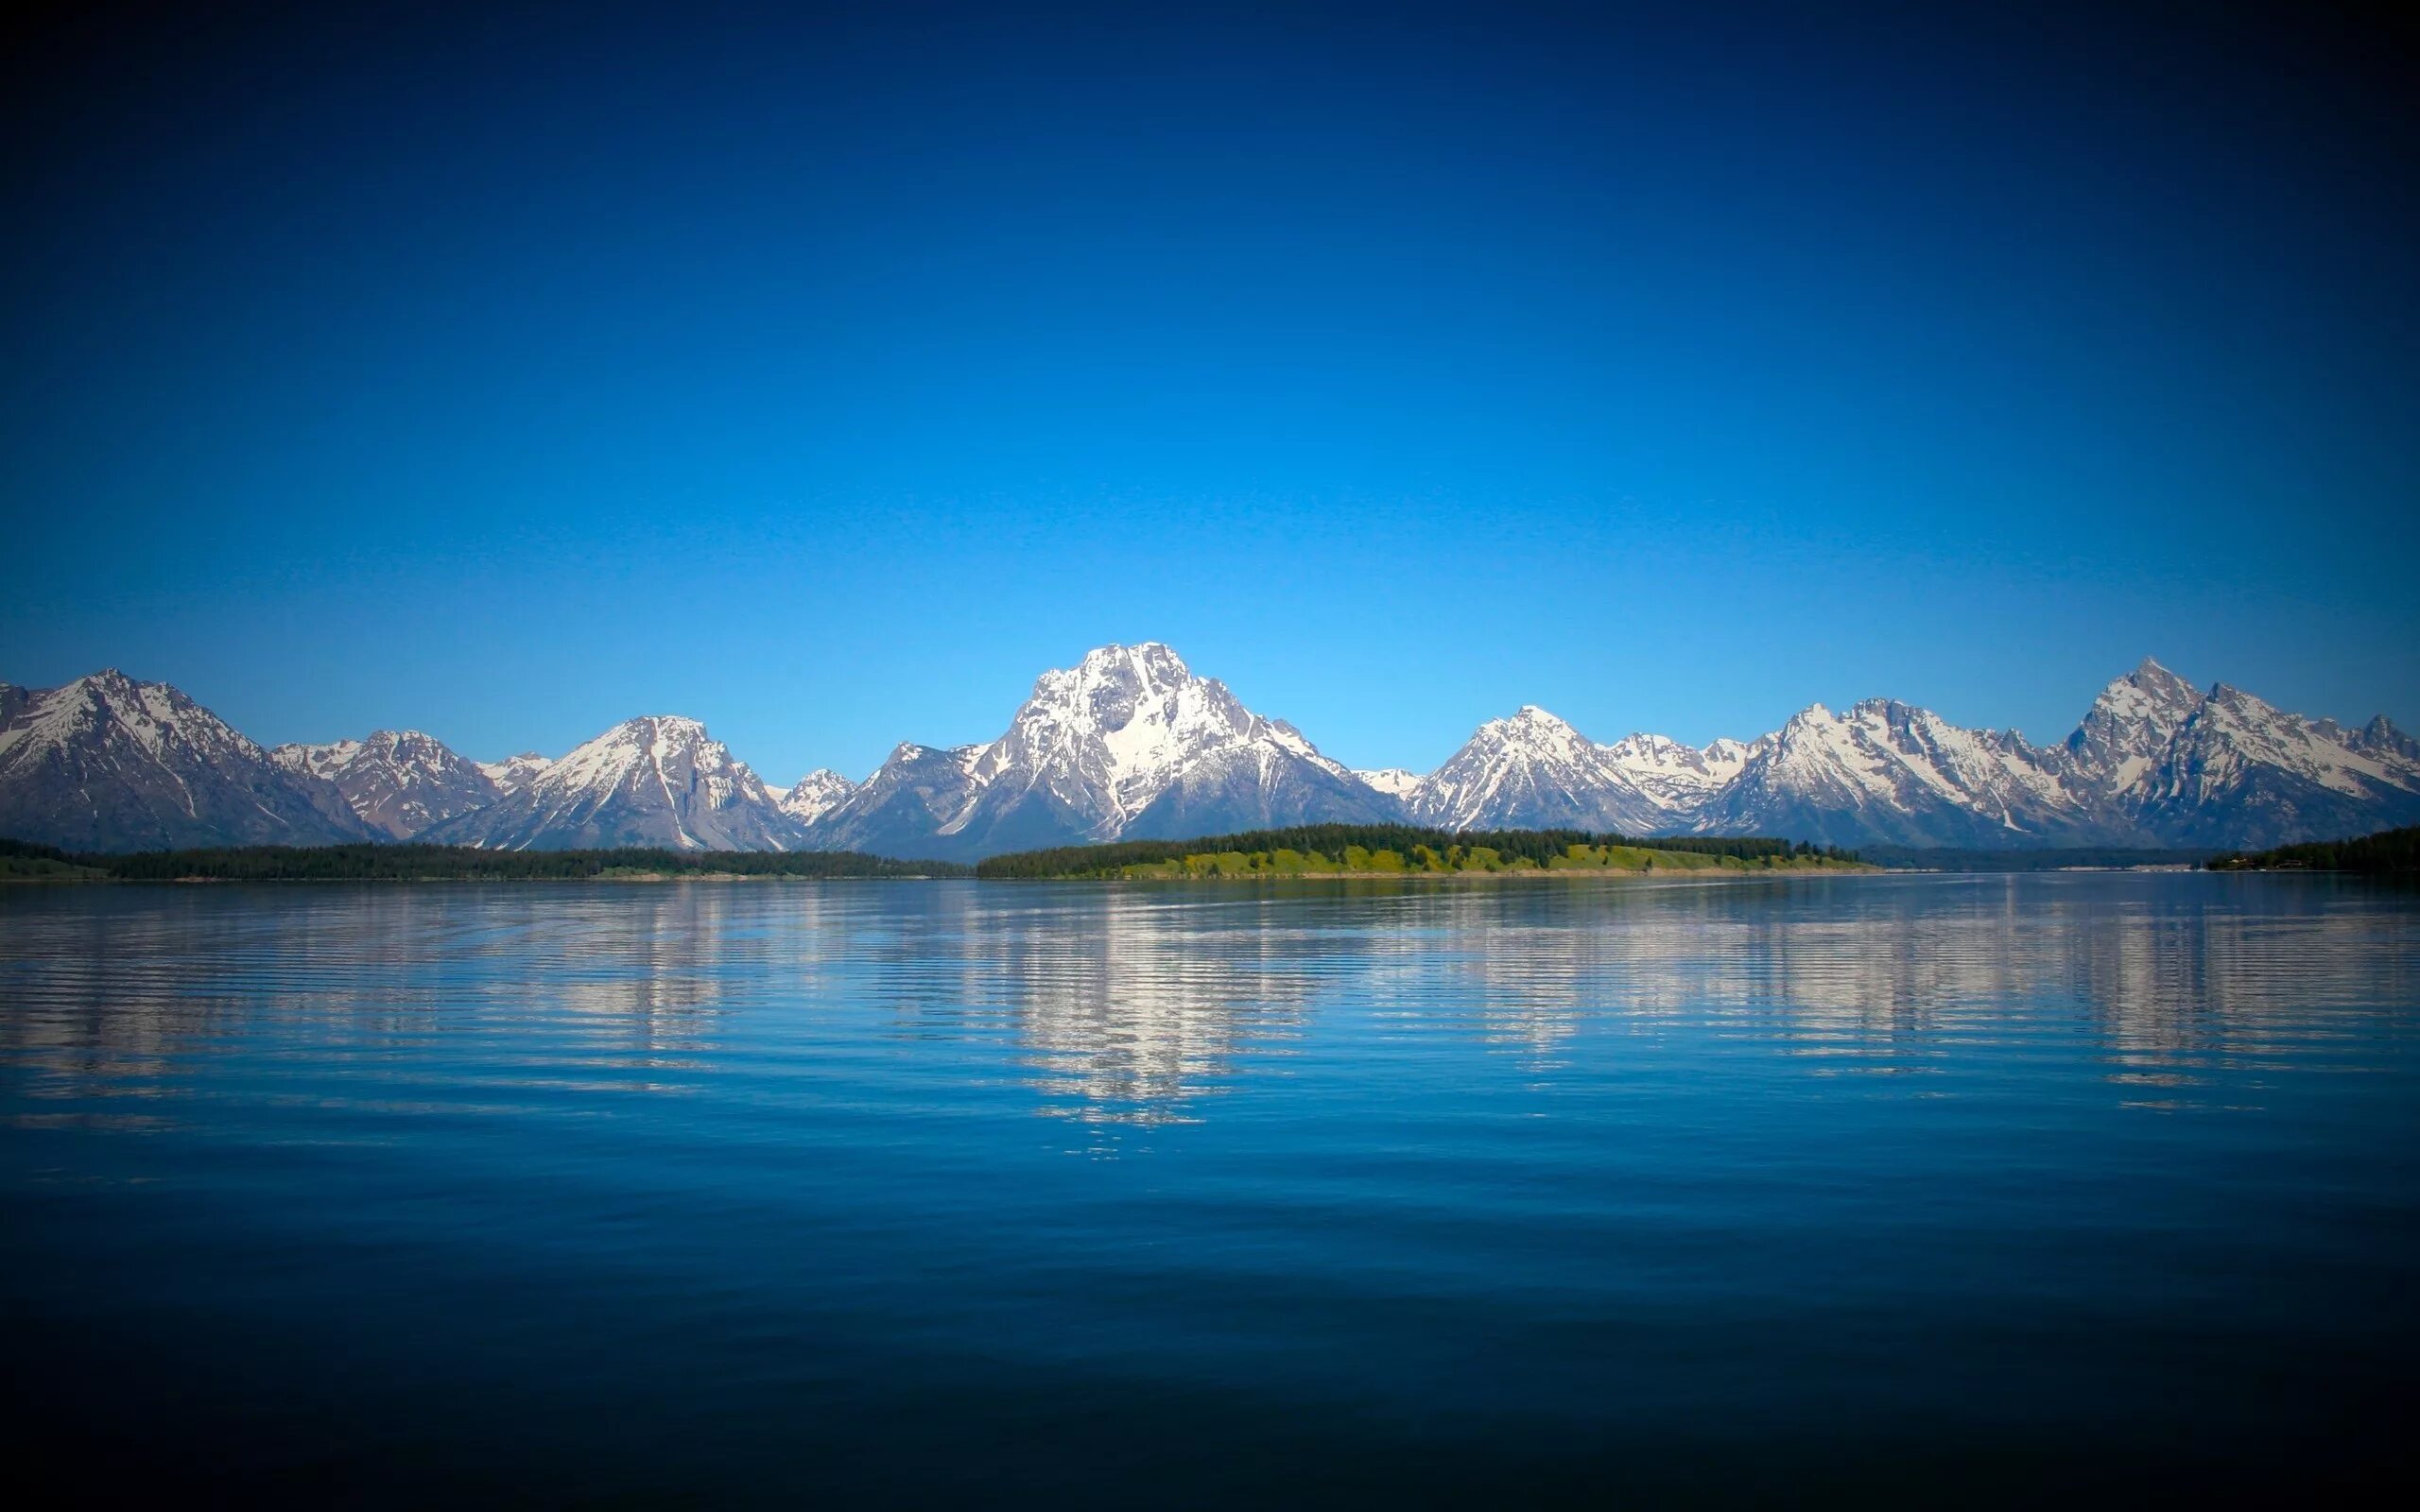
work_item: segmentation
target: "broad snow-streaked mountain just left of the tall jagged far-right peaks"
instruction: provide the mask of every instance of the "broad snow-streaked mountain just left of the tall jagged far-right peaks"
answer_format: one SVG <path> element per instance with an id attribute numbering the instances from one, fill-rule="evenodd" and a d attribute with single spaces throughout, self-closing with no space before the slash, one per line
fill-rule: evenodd
<path id="1" fill-rule="evenodd" d="M 1696 813 L 1709 835 L 1825 844 L 2021 847 L 2105 839 L 2101 813 L 2059 774 L 2062 757 L 2013 731 L 1967 731 L 1931 709 L 1822 704 L 1757 743 Z"/>

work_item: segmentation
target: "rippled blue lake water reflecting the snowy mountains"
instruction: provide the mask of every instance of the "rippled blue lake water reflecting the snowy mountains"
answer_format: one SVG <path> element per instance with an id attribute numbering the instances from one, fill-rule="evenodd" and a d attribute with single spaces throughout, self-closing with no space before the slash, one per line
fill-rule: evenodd
<path id="1" fill-rule="evenodd" d="M 2420 895 L 0 890 L 102 1497 L 1992 1500 L 2408 1473 Z"/>

